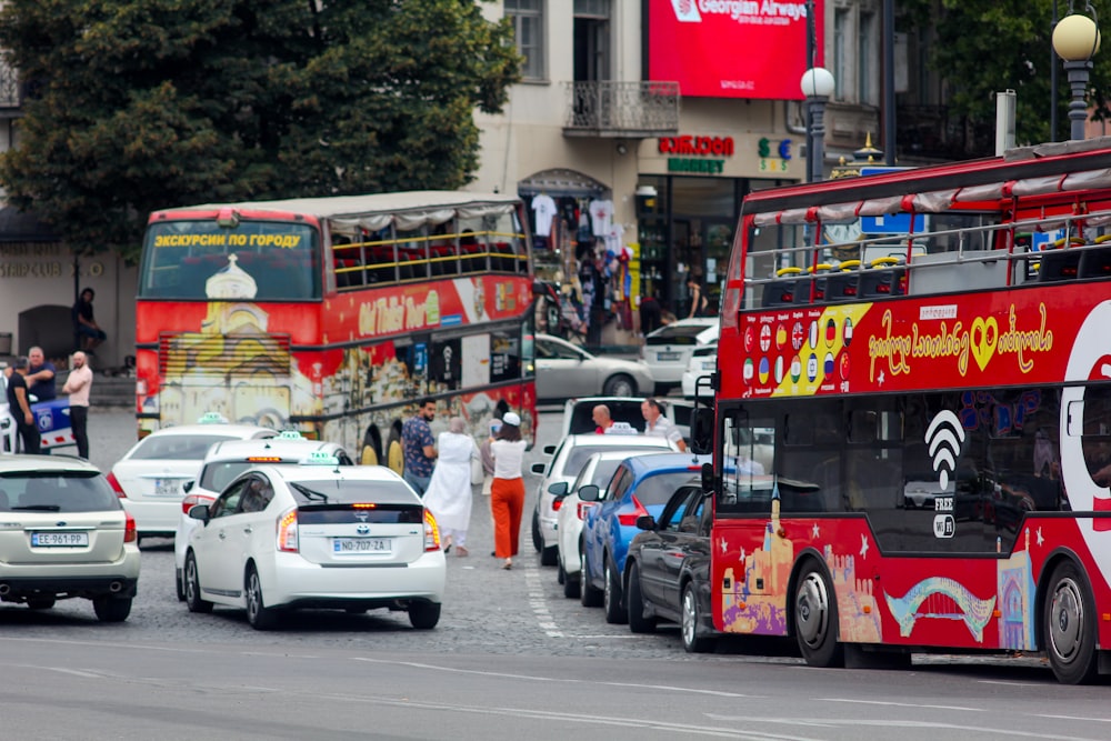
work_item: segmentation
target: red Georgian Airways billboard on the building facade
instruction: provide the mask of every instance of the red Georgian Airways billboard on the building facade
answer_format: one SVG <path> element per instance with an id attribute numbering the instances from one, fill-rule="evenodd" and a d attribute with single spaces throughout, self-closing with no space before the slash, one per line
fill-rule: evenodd
<path id="1" fill-rule="evenodd" d="M 649 0 L 648 79 L 683 97 L 802 100 L 807 1 Z M 815 0 L 817 66 L 824 0 Z"/>

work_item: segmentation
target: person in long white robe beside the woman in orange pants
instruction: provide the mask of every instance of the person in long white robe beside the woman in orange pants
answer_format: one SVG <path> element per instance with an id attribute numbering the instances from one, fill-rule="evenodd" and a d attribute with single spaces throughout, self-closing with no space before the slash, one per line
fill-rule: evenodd
<path id="1" fill-rule="evenodd" d="M 456 548 L 456 555 L 468 555 L 467 527 L 471 521 L 471 458 L 479 454 L 474 439 L 464 430 L 461 417 L 448 421 L 448 430 L 437 440 L 439 458 L 428 491 L 424 507 L 440 527 L 440 539 L 447 545 L 444 553 Z"/>

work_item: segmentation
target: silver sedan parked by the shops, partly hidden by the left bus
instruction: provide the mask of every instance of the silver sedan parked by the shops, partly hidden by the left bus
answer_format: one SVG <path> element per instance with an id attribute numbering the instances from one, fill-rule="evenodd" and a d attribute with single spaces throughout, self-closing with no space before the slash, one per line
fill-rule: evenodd
<path id="1" fill-rule="evenodd" d="M 551 334 L 537 334 L 536 348 L 539 399 L 647 395 L 655 385 L 641 363 L 599 358 Z"/>

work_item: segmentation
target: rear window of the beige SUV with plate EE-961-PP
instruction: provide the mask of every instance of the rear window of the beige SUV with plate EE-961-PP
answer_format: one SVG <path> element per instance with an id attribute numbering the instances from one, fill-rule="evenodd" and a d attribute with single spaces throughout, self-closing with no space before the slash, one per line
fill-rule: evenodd
<path id="1" fill-rule="evenodd" d="M 116 492 L 97 471 L 18 472 L 0 475 L 0 510 L 103 512 L 119 510 Z"/>

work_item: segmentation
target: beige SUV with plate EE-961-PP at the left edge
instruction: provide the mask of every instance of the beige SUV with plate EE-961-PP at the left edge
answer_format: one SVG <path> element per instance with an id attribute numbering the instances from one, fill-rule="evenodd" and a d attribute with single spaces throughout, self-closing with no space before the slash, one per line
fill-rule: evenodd
<path id="1" fill-rule="evenodd" d="M 136 521 L 93 464 L 0 455 L 0 601 L 49 610 L 92 600 L 103 622 L 131 613 L 139 582 Z"/>

